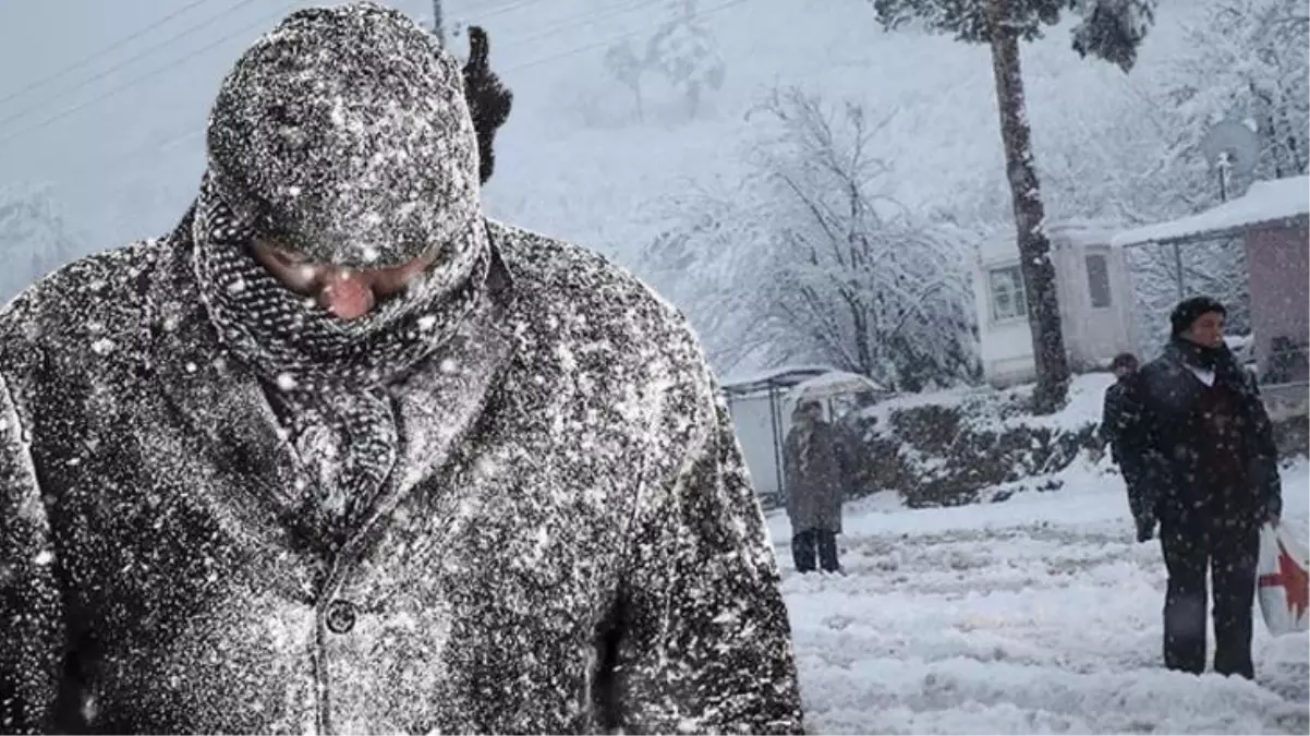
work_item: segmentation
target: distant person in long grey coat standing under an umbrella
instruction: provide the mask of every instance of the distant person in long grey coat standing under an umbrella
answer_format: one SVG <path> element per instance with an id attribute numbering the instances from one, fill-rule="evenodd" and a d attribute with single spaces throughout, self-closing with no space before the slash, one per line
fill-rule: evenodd
<path id="1" fill-rule="evenodd" d="M 823 418 L 817 401 L 803 399 L 791 414 L 783 468 L 787 483 L 787 519 L 796 572 L 837 572 L 837 534 L 841 503 L 850 477 L 845 437 Z"/>

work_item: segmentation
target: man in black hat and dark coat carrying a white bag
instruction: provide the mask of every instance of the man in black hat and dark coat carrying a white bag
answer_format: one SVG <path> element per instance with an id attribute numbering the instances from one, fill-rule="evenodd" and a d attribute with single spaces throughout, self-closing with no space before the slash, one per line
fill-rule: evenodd
<path id="1" fill-rule="evenodd" d="M 1159 524 L 1169 568 L 1165 664 L 1205 669 L 1207 571 L 1213 576 L 1214 671 L 1254 677 L 1251 614 L 1260 526 L 1281 512 L 1277 448 L 1255 377 L 1224 342 L 1222 304 L 1195 297 L 1170 317 L 1165 354 L 1129 390 L 1125 453 L 1140 538 Z"/>

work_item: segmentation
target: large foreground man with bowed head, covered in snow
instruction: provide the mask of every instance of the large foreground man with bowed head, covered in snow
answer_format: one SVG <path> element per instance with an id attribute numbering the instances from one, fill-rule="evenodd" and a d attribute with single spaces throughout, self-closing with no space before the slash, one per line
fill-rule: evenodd
<path id="1" fill-rule="evenodd" d="M 176 232 L 0 317 L 0 732 L 800 732 L 701 348 L 483 217 L 462 86 L 297 12 Z"/>

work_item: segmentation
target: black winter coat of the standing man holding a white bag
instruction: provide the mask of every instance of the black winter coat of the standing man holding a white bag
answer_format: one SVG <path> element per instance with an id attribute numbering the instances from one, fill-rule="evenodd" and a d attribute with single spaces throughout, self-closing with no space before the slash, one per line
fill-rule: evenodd
<path id="1" fill-rule="evenodd" d="M 1141 474 L 1129 486 L 1138 523 L 1214 513 L 1260 524 L 1282 511 L 1279 449 L 1255 376 L 1225 348 L 1214 352 L 1216 382 L 1231 397 L 1231 443 L 1216 443 L 1205 416 L 1209 390 L 1175 340 L 1129 381 L 1123 397 L 1121 452 Z M 1222 444 L 1224 447 L 1217 447 Z M 1216 473 L 1216 468 L 1231 468 Z M 1233 478 L 1221 483 L 1218 477 Z"/>

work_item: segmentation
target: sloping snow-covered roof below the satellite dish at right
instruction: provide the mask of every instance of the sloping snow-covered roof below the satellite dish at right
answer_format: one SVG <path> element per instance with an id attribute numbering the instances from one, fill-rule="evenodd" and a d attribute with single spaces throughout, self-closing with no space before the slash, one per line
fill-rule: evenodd
<path id="1" fill-rule="evenodd" d="M 1218 207 L 1172 220 L 1119 233 L 1116 248 L 1148 242 L 1174 244 L 1229 237 L 1250 228 L 1303 221 L 1310 224 L 1310 175 L 1262 181 L 1242 196 Z"/>

